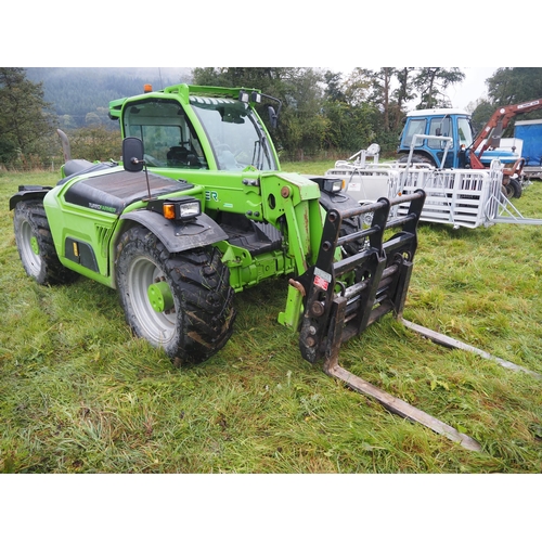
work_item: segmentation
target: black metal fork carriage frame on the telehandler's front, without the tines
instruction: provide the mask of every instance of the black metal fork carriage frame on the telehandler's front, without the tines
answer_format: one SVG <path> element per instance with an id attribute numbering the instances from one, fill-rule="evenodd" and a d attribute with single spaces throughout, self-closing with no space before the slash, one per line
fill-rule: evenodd
<path id="1" fill-rule="evenodd" d="M 389 311 L 402 315 L 424 201 L 425 193 L 418 190 L 395 199 L 382 197 L 374 204 L 327 211 L 317 263 L 297 279 L 307 294 L 299 337 L 307 361 L 336 359 L 343 343 Z M 408 202 L 406 215 L 390 218 L 393 206 Z M 369 214 L 373 216 L 370 228 L 347 231 L 345 220 L 360 217 L 363 223 Z M 387 230 L 399 231 L 384 241 Z M 351 253 L 353 246 L 361 249 L 336 260 L 337 247 Z"/>

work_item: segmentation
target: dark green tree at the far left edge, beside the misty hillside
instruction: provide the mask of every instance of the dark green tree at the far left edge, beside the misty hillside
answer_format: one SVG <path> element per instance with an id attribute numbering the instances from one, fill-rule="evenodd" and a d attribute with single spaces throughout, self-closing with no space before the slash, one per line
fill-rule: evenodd
<path id="1" fill-rule="evenodd" d="M 48 154 L 54 129 L 50 106 L 42 85 L 28 80 L 24 68 L 0 67 L 0 163 Z"/>

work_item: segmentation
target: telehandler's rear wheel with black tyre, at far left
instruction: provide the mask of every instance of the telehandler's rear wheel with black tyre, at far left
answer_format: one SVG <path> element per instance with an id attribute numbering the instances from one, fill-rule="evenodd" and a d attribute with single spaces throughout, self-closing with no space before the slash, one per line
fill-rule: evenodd
<path id="1" fill-rule="evenodd" d="M 41 201 L 20 202 L 15 206 L 13 227 L 23 267 L 38 284 L 65 284 L 78 276 L 59 261 Z"/>

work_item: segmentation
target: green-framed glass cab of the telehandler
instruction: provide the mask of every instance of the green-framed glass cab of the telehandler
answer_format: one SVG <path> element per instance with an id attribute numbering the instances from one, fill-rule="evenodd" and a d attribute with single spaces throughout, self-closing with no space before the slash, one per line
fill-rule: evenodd
<path id="1" fill-rule="evenodd" d="M 232 89 L 230 89 L 232 90 Z M 112 102 L 122 137 L 139 138 L 150 167 L 241 171 L 278 170 L 279 162 L 250 101 L 260 94 L 233 89 L 197 95 L 186 85 Z"/>

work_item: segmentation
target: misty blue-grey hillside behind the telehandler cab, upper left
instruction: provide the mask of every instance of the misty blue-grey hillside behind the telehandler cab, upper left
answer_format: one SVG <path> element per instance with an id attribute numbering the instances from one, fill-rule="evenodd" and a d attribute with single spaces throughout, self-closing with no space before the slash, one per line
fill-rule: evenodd
<path id="1" fill-rule="evenodd" d="M 111 100 L 142 92 L 143 85 L 162 89 L 191 81 L 191 68 L 29 67 L 28 79 L 42 82 L 44 99 L 52 104 L 61 127 L 80 128 L 91 114 L 106 126 Z"/>

